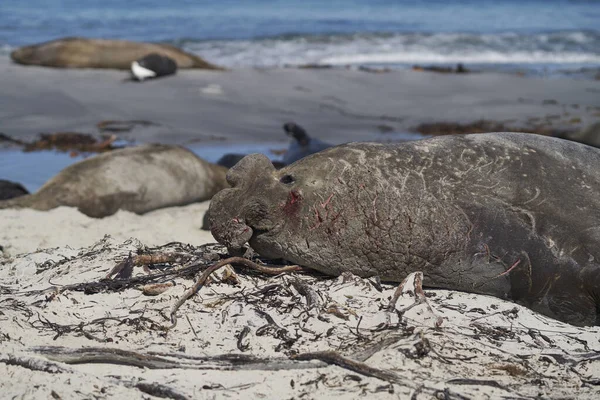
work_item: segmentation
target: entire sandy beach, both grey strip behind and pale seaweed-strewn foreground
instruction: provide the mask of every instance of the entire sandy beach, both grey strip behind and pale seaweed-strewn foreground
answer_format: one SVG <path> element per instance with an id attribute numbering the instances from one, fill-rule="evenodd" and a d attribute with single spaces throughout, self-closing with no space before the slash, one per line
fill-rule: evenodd
<path id="1" fill-rule="evenodd" d="M 119 137 L 285 147 L 281 125 L 290 120 L 342 143 L 397 140 L 382 131 L 409 132 L 424 122 L 485 119 L 577 130 L 600 118 L 600 81 L 591 80 L 349 69 L 180 71 L 143 84 L 126 77 L 2 59 L 0 131 L 30 140 L 40 132 L 97 134 L 105 120 L 145 120 L 152 125 Z M 408 291 L 386 311 L 395 287 L 372 279 L 237 269 L 237 279 L 215 278 L 185 302 L 177 326 L 166 329 L 169 310 L 194 274 L 152 281 L 166 284 L 158 296 L 145 295 L 142 283 L 102 286 L 130 253 L 185 255 L 161 264 L 162 272 L 208 263 L 202 254 L 216 250 L 187 246 L 214 242 L 200 230 L 207 206 L 141 216 L 120 211 L 104 219 L 66 207 L 0 210 L 4 395 L 595 399 L 600 393 L 599 327 L 570 326 L 487 296 L 426 290 L 423 302 Z M 153 248 L 170 242 L 183 244 Z M 135 268 L 133 276 L 150 275 Z M 92 289 L 96 283 L 101 290 Z"/>

